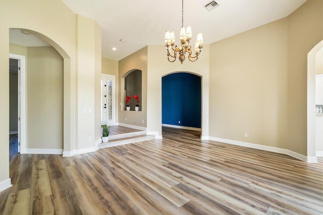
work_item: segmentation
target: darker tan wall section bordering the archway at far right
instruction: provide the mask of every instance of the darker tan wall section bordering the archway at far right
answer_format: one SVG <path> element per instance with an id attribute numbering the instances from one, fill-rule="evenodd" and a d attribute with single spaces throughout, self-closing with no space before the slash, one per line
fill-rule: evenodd
<path id="1" fill-rule="evenodd" d="M 306 144 L 307 54 L 323 39 L 322 20 L 321 0 L 309 0 L 288 16 L 288 140 L 282 148 L 302 155 L 309 155 Z"/>

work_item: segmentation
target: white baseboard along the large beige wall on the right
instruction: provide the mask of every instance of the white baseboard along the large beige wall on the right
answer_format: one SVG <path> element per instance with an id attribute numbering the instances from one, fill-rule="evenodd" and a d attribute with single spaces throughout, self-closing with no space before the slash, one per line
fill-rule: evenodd
<path id="1" fill-rule="evenodd" d="M 296 152 L 293 152 L 290 150 L 286 150 L 286 149 L 263 146 L 263 145 L 258 145 L 258 144 L 251 144 L 250 142 L 243 142 L 243 141 L 237 141 L 237 140 L 225 139 L 225 138 L 219 138 L 219 137 L 209 137 L 209 140 L 224 142 L 226 144 L 232 144 L 232 145 L 237 145 L 237 146 L 241 146 L 241 147 L 248 147 L 248 148 L 252 148 L 252 149 L 264 150 L 264 151 L 268 151 L 268 152 L 276 152 L 276 153 L 280 153 L 280 154 L 289 155 L 293 158 L 296 158 L 298 160 L 301 160 L 301 161 L 304 161 L 307 163 L 317 163 L 316 157 L 307 157 L 307 156 L 304 156 L 299 153 L 296 153 Z"/>

